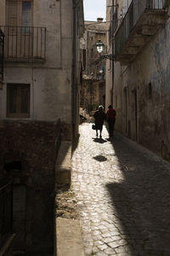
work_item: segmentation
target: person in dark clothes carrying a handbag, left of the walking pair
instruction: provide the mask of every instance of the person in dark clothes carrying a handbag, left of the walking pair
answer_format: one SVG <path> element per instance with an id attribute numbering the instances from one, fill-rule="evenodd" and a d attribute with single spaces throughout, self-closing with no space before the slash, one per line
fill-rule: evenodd
<path id="1" fill-rule="evenodd" d="M 95 127 L 96 127 L 96 137 L 98 137 L 98 130 L 99 130 L 99 137 L 101 138 L 104 120 L 106 119 L 103 106 L 99 106 L 99 109 L 94 113 L 94 119 L 95 119 Z"/>

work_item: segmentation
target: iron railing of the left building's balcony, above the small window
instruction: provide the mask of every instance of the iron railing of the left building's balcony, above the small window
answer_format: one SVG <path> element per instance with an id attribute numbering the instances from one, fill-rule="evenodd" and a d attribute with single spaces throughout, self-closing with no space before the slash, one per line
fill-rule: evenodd
<path id="1" fill-rule="evenodd" d="M 4 34 L 4 59 L 45 60 L 46 28 L 36 26 L 0 26 Z"/>

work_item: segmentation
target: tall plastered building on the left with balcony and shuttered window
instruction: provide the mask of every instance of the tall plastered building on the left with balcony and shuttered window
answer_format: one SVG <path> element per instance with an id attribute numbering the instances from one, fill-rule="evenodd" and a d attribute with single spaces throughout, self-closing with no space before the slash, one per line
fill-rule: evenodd
<path id="1" fill-rule="evenodd" d="M 14 251 L 53 255 L 55 162 L 79 124 L 82 0 L 0 0 L 0 28 L 0 249 L 14 234 Z"/>

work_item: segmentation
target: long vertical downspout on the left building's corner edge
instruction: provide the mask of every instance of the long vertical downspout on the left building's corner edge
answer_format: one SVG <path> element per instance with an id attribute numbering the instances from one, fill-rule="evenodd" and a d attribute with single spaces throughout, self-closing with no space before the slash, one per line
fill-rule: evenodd
<path id="1" fill-rule="evenodd" d="M 72 23 L 72 88 L 71 88 L 71 119 L 72 140 L 75 139 L 77 124 L 77 1 L 73 0 L 73 23 Z"/>

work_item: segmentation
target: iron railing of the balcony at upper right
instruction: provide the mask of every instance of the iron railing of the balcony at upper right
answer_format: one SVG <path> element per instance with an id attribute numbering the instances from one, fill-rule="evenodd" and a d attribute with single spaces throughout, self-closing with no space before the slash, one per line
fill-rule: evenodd
<path id="1" fill-rule="evenodd" d="M 165 9 L 167 1 L 166 0 L 133 0 L 127 9 L 127 14 L 122 20 L 118 31 L 115 36 L 115 55 L 118 55 L 126 43 L 130 32 L 136 25 L 139 17 L 144 13 L 146 9 L 159 10 Z"/>

